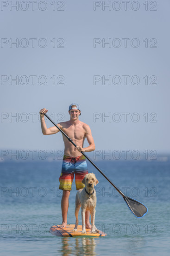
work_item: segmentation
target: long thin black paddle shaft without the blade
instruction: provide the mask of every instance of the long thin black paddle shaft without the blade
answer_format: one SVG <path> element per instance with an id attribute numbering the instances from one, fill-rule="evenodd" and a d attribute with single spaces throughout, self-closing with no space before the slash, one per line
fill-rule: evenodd
<path id="1" fill-rule="evenodd" d="M 43 115 L 45 115 L 57 128 L 58 128 L 58 130 L 75 146 L 75 147 L 77 147 L 77 145 L 50 119 L 50 117 L 48 116 L 48 115 L 46 115 L 46 114 L 44 114 L 44 113 L 41 113 L 41 114 L 43 114 Z M 81 153 L 82 153 L 82 155 L 84 155 L 87 159 L 88 159 L 88 161 L 89 162 L 91 162 L 91 164 L 93 164 L 93 166 L 107 179 L 107 181 L 108 182 L 110 182 L 110 184 L 120 193 L 120 195 L 122 195 L 123 197 L 125 197 L 125 195 L 120 191 L 120 189 L 118 189 L 114 184 L 113 184 L 113 182 L 111 182 L 108 178 L 107 178 L 107 176 L 94 164 L 94 162 L 92 162 L 91 160 L 90 160 L 90 158 L 86 155 L 86 154 L 84 154 L 84 152 L 83 151 L 81 151 Z"/>

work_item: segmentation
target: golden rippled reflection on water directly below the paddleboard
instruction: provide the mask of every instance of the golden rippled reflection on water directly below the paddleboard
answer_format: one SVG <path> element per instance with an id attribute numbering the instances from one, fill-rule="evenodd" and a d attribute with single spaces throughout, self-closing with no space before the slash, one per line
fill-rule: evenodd
<path id="1" fill-rule="evenodd" d="M 70 255 L 97 255 L 95 252 L 96 244 L 99 243 L 98 237 L 62 237 L 61 248 L 57 250 L 62 256 Z"/>

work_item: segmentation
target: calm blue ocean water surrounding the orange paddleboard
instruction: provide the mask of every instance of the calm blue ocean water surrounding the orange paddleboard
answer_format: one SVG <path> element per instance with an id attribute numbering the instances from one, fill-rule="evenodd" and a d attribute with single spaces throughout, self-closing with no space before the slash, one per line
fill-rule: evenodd
<path id="1" fill-rule="evenodd" d="M 96 226 L 106 237 L 57 237 L 60 224 L 61 161 L 0 162 L 0 255 L 70 256 L 170 255 L 170 161 L 102 161 L 96 165 L 126 195 L 144 203 L 148 213 L 136 218 L 121 195 L 88 163 L 96 186 Z M 75 180 L 69 198 L 68 223 L 75 223 Z M 82 223 L 81 211 L 79 224 Z"/>

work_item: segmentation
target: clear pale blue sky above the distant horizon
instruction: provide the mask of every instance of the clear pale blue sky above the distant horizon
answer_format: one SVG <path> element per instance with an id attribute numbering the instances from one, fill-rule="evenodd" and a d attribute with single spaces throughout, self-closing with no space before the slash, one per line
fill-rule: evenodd
<path id="1" fill-rule="evenodd" d="M 110 3 L 1 1 L 1 149 L 63 149 L 38 113 L 76 101 L 96 149 L 170 153 L 170 1 Z"/>

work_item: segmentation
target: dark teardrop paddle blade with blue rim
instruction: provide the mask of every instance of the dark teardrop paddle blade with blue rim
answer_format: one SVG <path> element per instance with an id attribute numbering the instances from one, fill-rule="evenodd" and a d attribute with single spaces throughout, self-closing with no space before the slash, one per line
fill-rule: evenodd
<path id="1" fill-rule="evenodd" d="M 128 196 L 125 196 L 123 198 L 134 216 L 136 216 L 137 218 L 142 218 L 143 216 L 145 216 L 148 209 L 143 203 L 136 201 Z"/>

